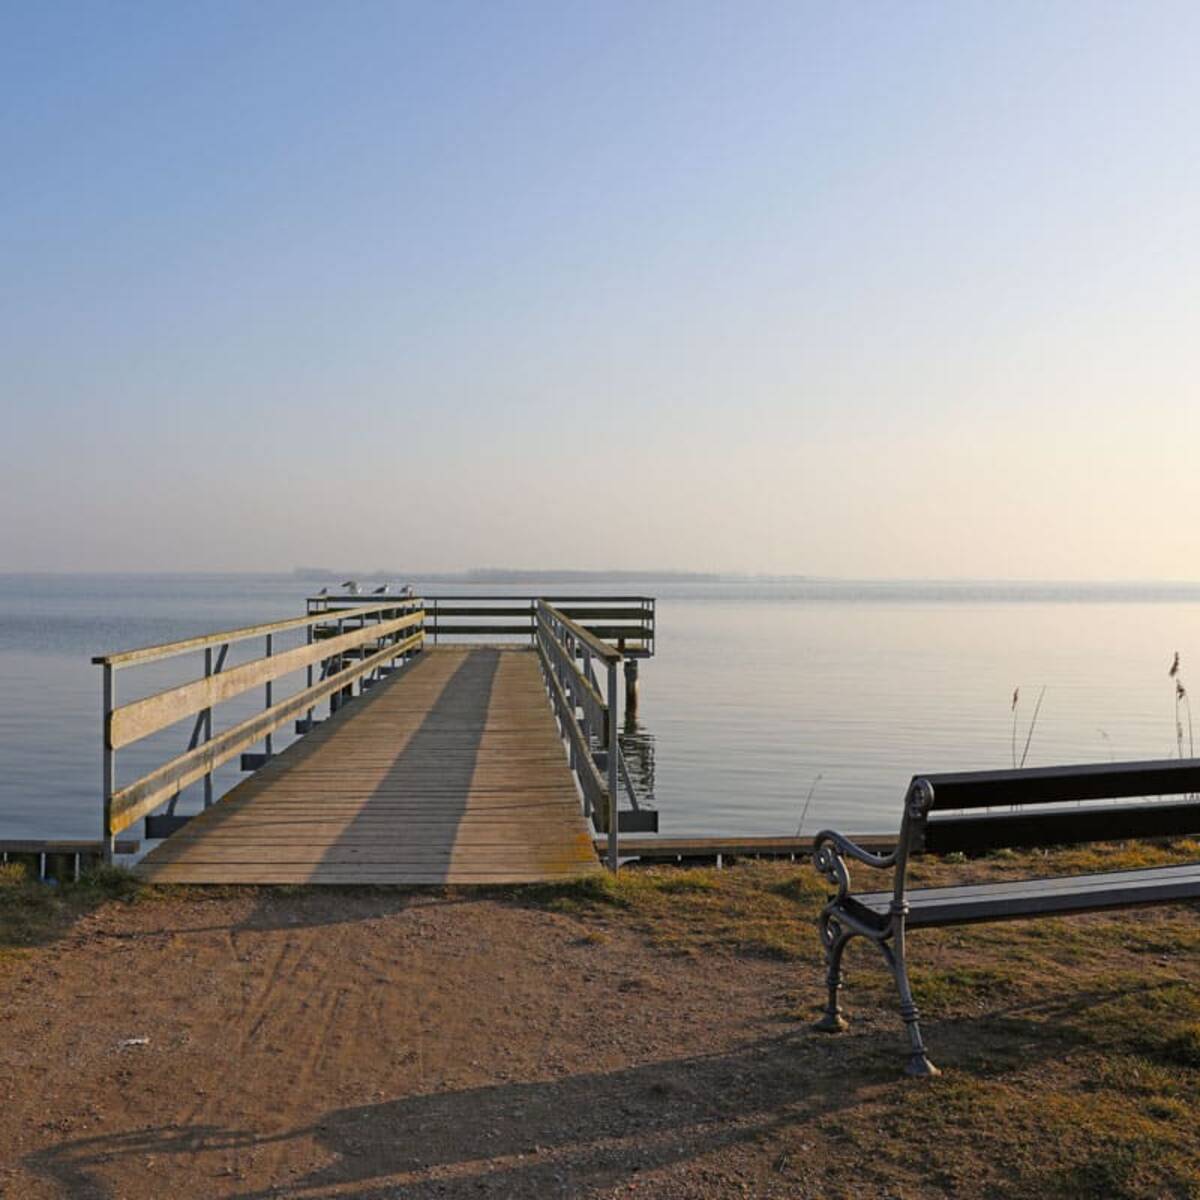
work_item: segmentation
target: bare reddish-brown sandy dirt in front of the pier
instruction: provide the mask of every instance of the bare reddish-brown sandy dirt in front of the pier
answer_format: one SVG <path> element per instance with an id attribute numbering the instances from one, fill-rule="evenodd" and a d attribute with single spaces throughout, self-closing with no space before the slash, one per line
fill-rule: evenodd
<path id="1" fill-rule="evenodd" d="M 0 1195 L 906 1194 L 811 1123 L 870 1086 L 818 1001 L 496 899 L 108 904 L 0 972 Z"/>

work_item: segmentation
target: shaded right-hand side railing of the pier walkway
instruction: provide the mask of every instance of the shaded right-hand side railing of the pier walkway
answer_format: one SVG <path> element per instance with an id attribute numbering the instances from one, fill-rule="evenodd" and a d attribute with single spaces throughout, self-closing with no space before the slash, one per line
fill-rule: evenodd
<path id="1" fill-rule="evenodd" d="M 617 734 L 617 671 L 624 656 L 546 600 L 535 601 L 534 619 L 534 641 L 571 769 L 583 793 L 583 814 L 606 833 L 608 866 L 616 870 L 622 785 L 634 811 L 641 812 Z"/>

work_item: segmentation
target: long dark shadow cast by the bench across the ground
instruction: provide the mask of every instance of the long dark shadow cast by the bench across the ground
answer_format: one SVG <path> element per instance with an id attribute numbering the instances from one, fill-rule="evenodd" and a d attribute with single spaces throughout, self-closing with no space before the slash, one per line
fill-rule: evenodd
<path id="1" fill-rule="evenodd" d="M 996 1078 L 1058 1057 L 1066 1045 L 1055 1033 L 1057 1019 L 1106 998 L 1063 994 L 1024 1016 L 1015 1008 L 997 1012 L 988 1019 L 986 1062 L 978 1057 L 980 1018 L 930 1022 L 929 1032 L 952 1078 Z M 583 1196 L 737 1147 L 821 1139 L 826 1117 L 841 1127 L 847 1122 L 840 1112 L 848 1121 L 859 1105 L 938 1087 L 902 1078 L 901 1042 L 899 1022 L 872 1020 L 839 1038 L 805 1028 L 728 1054 L 332 1109 L 282 1132 L 197 1124 L 62 1141 L 24 1165 L 86 1200 L 124 1195 L 112 1182 L 121 1178 L 122 1164 L 137 1170 L 149 1160 L 164 1194 L 186 1194 L 179 1188 L 186 1189 L 196 1168 L 185 1156 L 210 1177 L 230 1174 L 222 1166 L 241 1156 L 236 1178 L 220 1192 L 236 1200 Z M 271 1147 L 284 1159 L 322 1165 L 289 1171 L 286 1182 L 256 1178 L 252 1156 Z"/>

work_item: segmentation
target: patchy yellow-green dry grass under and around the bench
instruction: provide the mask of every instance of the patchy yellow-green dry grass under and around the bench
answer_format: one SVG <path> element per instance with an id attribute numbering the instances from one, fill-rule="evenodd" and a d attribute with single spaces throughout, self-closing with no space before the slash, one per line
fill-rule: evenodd
<path id="1" fill-rule="evenodd" d="M 920 883 L 1192 862 L 1200 844 L 1100 845 L 923 860 Z M 883 886 L 863 869 L 859 887 Z M 671 954 L 770 955 L 820 982 L 826 884 L 806 865 L 646 869 L 539 898 L 594 928 L 634 926 Z M 829 1039 L 791 1135 L 812 1195 L 1150 1200 L 1200 1196 L 1200 913 L 1192 905 L 919 931 L 912 982 L 941 1079 L 900 1074 L 890 978 L 856 942 L 851 1033 Z M 857 954 L 856 954 L 857 950 Z M 820 995 L 820 989 L 808 991 Z M 803 1006 L 802 1006 L 803 1009 Z M 793 1016 L 808 1021 L 812 1010 Z M 811 1098 L 810 1098 L 811 1099 Z M 859 1186 L 840 1188 L 857 1177 Z M 840 1183 L 838 1181 L 841 1181 Z"/>

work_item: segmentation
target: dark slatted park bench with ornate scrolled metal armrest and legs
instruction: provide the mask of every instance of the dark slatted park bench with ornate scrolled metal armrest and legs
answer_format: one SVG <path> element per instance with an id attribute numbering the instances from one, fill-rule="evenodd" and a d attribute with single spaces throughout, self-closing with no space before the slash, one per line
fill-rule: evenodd
<path id="1" fill-rule="evenodd" d="M 1196 833 L 1200 760 L 1195 758 L 917 775 L 905 794 L 893 851 L 871 853 L 829 829 L 814 840 L 814 863 L 838 889 L 820 917 L 829 996 L 816 1027 L 828 1033 L 846 1028 L 839 1003 L 842 954 L 854 937 L 865 937 L 882 952 L 900 994 L 910 1043 L 905 1069 L 910 1075 L 936 1075 L 908 983 L 908 930 L 1200 899 L 1200 863 L 910 888 L 906 875 L 914 854 L 978 854 Z M 892 869 L 892 889 L 853 894 L 847 858 Z"/>

